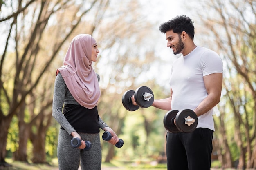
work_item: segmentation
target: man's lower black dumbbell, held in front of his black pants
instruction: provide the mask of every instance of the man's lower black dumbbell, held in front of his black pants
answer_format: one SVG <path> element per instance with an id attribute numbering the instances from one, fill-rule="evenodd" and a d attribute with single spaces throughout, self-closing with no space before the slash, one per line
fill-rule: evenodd
<path id="1" fill-rule="evenodd" d="M 176 118 L 176 125 L 174 119 Z M 164 128 L 171 133 L 193 132 L 198 125 L 198 117 L 193 110 L 171 110 L 164 115 Z"/>

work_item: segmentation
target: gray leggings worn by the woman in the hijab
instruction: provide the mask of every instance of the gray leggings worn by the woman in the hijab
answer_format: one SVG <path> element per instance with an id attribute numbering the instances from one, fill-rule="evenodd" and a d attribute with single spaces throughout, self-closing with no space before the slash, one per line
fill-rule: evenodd
<path id="1" fill-rule="evenodd" d="M 60 170 L 78 170 L 79 159 L 82 170 L 101 170 L 101 143 L 99 133 L 79 133 L 82 140 L 90 141 L 92 148 L 89 151 L 73 148 L 70 144 L 71 135 L 60 129 L 58 136 L 58 164 Z"/>

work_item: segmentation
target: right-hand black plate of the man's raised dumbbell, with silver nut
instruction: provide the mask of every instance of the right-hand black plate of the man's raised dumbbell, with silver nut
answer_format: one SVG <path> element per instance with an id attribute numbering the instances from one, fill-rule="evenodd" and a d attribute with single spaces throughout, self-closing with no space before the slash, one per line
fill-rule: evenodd
<path id="1" fill-rule="evenodd" d="M 148 100 L 145 100 L 144 99 L 145 97 L 143 96 L 145 94 L 149 94 L 152 96 L 148 97 Z M 154 94 L 153 94 L 153 91 L 151 91 L 151 89 L 148 88 L 147 86 L 141 86 L 135 90 L 134 99 L 139 107 L 148 108 L 154 102 Z"/>

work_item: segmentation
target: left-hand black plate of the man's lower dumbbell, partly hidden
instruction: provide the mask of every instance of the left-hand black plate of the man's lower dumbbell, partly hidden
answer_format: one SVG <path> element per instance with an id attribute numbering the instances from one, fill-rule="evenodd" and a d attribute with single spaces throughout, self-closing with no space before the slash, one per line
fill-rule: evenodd
<path id="1" fill-rule="evenodd" d="M 179 111 L 171 110 L 164 115 L 164 128 L 171 133 L 178 133 L 180 130 L 174 124 L 174 119 Z"/>

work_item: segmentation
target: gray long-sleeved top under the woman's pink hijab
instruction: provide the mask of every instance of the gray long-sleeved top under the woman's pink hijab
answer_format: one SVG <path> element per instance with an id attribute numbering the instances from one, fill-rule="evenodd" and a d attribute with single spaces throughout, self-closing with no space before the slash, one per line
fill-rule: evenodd
<path id="1" fill-rule="evenodd" d="M 97 75 L 98 76 L 98 75 Z M 98 76 L 99 80 L 99 76 Z M 55 79 L 54 84 L 54 95 L 53 95 L 53 103 L 52 103 L 52 116 L 56 119 L 56 121 L 63 127 L 69 135 L 72 132 L 76 131 L 70 123 L 67 121 L 65 116 L 63 115 L 63 104 L 79 104 L 76 102 L 74 97 L 71 95 L 68 90 L 61 73 L 58 73 Z M 99 117 L 99 127 L 101 129 L 108 127 L 108 125 Z"/>

